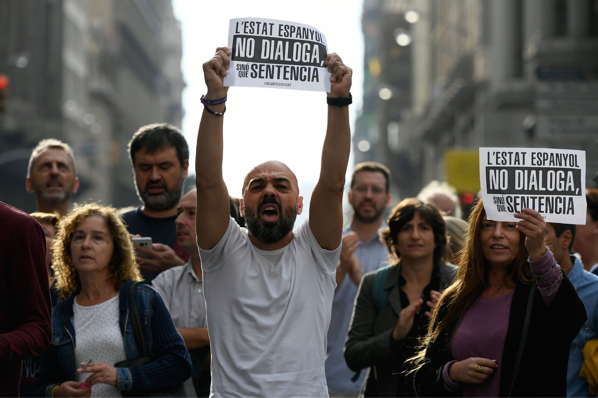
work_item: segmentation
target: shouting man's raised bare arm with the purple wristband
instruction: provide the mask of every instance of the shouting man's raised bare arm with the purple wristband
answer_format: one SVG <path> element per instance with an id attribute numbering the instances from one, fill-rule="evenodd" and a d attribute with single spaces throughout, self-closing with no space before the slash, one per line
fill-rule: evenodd
<path id="1" fill-rule="evenodd" d="M 216 54 L 203 64 L 203 76 L 208 87 L 206 98 L 219 100 L 227 95 L 224 76 L 230 64 L 230 50 L 216 48 Z M 224 112 L 224 103 L 208 106 L 212 112 Z M 197 133 L 195 183 L 197 186 L 197 242 L 205 250 L 222 239 L 228 227 L 230 209 L 228 190 L 222 179 L 222 119 L 203 109 Z"/>

